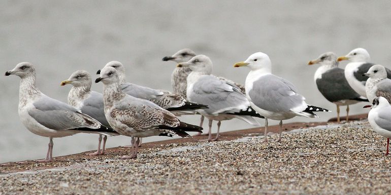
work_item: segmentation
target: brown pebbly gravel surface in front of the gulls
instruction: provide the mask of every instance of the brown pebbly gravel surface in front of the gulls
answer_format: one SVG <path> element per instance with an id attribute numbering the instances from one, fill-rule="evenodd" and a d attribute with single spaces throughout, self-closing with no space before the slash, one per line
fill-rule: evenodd
<path id="1" fill-rule="evenodd" d="M 386 139 L 367 122 L 231 141 L 172 143 L 136 160 L 0 175 L 0 194 L 389 194 Z"/>

